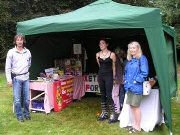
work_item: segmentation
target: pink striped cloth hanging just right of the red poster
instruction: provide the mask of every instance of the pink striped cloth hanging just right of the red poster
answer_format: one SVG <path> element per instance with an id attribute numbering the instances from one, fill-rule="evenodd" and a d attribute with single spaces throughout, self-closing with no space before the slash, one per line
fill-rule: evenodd
<path id="1" fill-rule="evenodd" d="M 80 100 L 85 95 L 85 84 L 83 76 L 74 77 L 73 99 Z"/>

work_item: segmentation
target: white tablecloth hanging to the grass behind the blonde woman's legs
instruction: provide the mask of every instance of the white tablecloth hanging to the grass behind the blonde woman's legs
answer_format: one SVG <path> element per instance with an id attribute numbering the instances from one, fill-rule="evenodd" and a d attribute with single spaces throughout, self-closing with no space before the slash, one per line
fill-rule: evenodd
<path id="1" fill-rule="evenodd" d="M 133 125 L 133 116 L 130 106 L 126 104 L 125 95 L 122 112 L 119 116 L 120 127 L 124 128 Z M 152 89 L 150 95 L 143 96 L 141 105 L 141 129 L 146 132 L 153 131 L 157 124 L 162 121 L 162 109 L 160 106 L 159 90 Z"/>

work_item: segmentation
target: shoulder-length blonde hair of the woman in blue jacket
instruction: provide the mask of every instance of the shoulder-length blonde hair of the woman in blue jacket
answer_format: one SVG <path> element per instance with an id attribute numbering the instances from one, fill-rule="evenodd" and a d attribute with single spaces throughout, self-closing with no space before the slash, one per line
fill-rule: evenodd
<path id="1" fill-rule="evenodd" d="M 141 55 L 142 55 L 142 49 L 141 49 L 141 46 L 139 44 L 139 42 L 137 41 L 132 41 L 128 44 L 128 50 L 127 50 L 127 60 L 130 61 L 132 59 L 132 55 L 129 51 L 129 47 L 132 45 L 132 44 L 135 44 L 136 47 L 138 48 L 138 54 L 136 55 L 136 58 L 137 59 L 140 59 Z"/>

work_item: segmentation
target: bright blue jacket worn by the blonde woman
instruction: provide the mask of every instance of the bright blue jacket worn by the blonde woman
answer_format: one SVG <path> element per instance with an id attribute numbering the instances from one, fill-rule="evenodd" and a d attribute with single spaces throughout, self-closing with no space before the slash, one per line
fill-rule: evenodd
<path id="1" fill-rule="evenodd" d="M 124 75 L 124 88 L 134 94 L 142 95 L 143 81 L 149 72 L 148 61 L 144 55 L 140 59 L 132 58 L 126 63 Z"/>

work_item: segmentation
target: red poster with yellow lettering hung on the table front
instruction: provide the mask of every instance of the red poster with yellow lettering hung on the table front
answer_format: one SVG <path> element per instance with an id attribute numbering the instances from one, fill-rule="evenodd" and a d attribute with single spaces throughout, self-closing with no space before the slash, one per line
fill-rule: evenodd
<path id="1" fill-rule="evenodd" d="M 73 100 L 73 77 L 54 82 L 54 111 L 66 108 Z"/>

